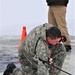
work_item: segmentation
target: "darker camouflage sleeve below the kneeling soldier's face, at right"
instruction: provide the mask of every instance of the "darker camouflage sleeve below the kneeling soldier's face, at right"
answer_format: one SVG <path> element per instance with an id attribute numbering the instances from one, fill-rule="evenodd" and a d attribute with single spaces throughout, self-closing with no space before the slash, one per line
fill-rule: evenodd
<path id="1" fill-rule="evenodd" d="M 65 57 L 66 57 L 66 49 L 63 44 L 56 45 L 55 49 L 52 52 L 52 57 L 54 61 L 54 65 L 60 69 L 62 69 Z M 54 68 L 55 74 L 59 74 L 60 70 Z"/>

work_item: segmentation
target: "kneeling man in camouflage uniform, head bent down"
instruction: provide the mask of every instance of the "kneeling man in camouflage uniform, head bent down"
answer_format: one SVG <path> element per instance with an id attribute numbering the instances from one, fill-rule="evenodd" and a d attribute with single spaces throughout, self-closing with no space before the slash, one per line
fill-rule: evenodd
<path id="1" fill-rule="evenodd" d="M 50 63 L 51 58 L 54 65 L 62 68 L 66 50 L 60 40 L 60 30 L 51 24 L 46 23 L 34 28 L 19 49 L 19 59 L 24 75 L 52 75 L 52 68 L 45 63 L 46 61 Z M 54 69 L 54 74 L 59 73 L 58 69 Z"/>

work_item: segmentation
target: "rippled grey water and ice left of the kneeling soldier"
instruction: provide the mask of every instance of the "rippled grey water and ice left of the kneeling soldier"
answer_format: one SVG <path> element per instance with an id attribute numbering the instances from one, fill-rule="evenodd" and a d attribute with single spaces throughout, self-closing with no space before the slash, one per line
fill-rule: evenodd
<path id="1" fill-rule="evenodd" d="M 19 42 L 19 36 L 0 37 L 0 72 L 3 72 L 10 62 L 20 68 L 18 49 L 16 48 L 20 44 Z"/>

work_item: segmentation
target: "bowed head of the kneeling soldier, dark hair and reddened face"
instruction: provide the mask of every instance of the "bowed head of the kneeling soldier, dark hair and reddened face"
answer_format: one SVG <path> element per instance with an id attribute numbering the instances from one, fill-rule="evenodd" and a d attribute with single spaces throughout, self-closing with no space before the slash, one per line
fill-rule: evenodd
<path id="1" fill-rule="evenodd" d="M 60 43 L 61 32 L 57 27 L 51 27 L 46 30 L 46 39 L 49 44 L 56 45 Z"/>

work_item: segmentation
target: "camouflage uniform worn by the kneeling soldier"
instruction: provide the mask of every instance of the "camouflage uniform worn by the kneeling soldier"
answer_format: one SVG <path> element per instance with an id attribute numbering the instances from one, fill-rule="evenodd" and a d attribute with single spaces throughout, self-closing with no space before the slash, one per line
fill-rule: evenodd
<path id="1" fill-rule="evenodd" d="M 42 60 L 48 61 L 48 45 L 45 42 L 45 30 L 49 27 L 52 27 L 52 25 L 46 23 L 34 28 L 27 35 L 26 39 L 20 46 L 18 55 L 24 75 L 52 75 L 52 73 L 48 71 L 48 65 L 43 64 L 42 61 L 39 60 L 40 58 Z M 42 38 L 39 39 L 37 43 L 39 37 Z M 64 46 L 62 44 L 51 46 L 50 50 L 54 64 L 61 68 L 66 56 Z M 59 52 L 61 53 L 57 55 Z M 59 70 L 54 69 L 54 75 L 58 75 L 58 73 Z"/>

